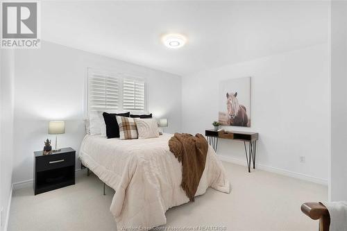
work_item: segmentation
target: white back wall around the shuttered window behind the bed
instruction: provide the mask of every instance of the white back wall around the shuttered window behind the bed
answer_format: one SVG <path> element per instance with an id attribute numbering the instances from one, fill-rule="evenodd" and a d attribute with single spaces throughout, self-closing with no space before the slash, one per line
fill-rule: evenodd
<path id="1" fill-rule="evenodd" d="M 87 67 L 147 78 L 149 112 L 169 119 L 165 131 L 180 131 L 179 76 L 50 42 L 44 42 L 41 49 L 17 50 L 15 64 L 14 182 L 33 178 L 33 151 L 42 150 L 44 139 L 54 139 L 47 134 L 51 119 L 66 121 L 65 134 L 58 137 L 60 146 L 78 151 L 85 135 Z"/>

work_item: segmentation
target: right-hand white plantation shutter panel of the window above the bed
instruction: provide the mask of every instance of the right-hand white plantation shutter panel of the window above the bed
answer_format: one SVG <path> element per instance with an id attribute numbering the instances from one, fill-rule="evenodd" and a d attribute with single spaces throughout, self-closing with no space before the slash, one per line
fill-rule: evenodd
<path id="1" fill-rule="evenodd" d="M 145 102 L 144 80 L 137 78 L 123 79 L 123 109 L 144 112 Z"/>

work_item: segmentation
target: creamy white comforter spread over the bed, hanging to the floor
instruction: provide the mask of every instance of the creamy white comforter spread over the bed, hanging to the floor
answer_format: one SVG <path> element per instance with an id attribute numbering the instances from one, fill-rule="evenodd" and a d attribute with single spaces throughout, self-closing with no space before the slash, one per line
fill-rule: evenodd
<path id="1" fill-rule="evenodd" d="M 180 187 L 182 164 L 169 151 L 171 137 L 164 134 L 153 139 L 120 140 L 86 135 L 83 139 L 80 160 L 116 191 L 110 212 L 119 230 L 163 225 L 167 209 L 189 201 Z M 230 192 L 223 166 L 211 146 L 196 196 L 208 187 Z"/>

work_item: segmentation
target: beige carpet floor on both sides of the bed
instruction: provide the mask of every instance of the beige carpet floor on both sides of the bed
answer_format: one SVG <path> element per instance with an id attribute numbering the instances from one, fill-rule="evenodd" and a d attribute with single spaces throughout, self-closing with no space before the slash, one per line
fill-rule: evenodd
<path id="1" fill-rule="evenodd" d="M 318 222 L 301 212 L 307 201 L 327 200 L 322 185 L 280 176 L 266 171 L 223 162 L 232 185 L 230 194 L 208 189 L 206 194 L 167 211 L 171 230 L 207 230 L 204 225 L 226 230 L 318 230 Z M 37 196 L 32 188 L 13 193 L 8 230 L 117 230 L 109 212 L 114 191 L 93 174 L 76 174 L 76 185 Z M 161 230 L 164 230 L 164 227 Z M 212 231 L 219 231 L 213 230 Z"/>

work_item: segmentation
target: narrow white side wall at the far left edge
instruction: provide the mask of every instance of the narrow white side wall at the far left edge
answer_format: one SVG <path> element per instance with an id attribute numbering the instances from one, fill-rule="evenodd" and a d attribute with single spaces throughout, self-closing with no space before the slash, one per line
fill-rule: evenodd
<path id="1" fill-rule="evenodd" d="M 3 225 L 5 230 L 8 219 L 9 201 L 12 189 L 12 160 L 13 160 L 13 111 L 14 111 L 14 75 L 15 53 L 11 50 L 1 51 L 0 78 L 0 198 L 3 208 Z"/>

